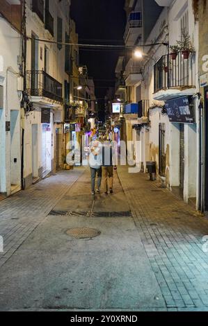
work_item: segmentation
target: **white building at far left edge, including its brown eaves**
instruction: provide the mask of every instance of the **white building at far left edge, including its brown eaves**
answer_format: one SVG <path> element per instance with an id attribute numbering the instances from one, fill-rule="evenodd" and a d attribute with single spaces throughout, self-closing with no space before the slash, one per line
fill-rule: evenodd
<path id="1" fill-rule="evenodd" d="M 22 1 L 0 5 L 0 200 L 21 189 Z M 13 40 L 13 42 L 11 42 Z"/>

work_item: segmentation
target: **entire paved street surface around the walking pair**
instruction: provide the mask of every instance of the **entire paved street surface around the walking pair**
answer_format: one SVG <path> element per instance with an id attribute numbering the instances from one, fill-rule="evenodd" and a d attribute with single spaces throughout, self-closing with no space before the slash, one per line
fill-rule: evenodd
<path id="1" fill-rule="evenodd" d="M 1 201 L 1 310 L 208 311 L 207 218 L 126 166 L 114 179 L 94 198 L 81 167 Z"/>

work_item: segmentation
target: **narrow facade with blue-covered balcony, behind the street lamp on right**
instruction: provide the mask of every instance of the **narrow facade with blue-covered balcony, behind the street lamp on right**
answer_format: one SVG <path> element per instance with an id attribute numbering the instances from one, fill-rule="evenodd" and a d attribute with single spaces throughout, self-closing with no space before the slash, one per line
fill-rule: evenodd
<path id="1" fill-rule="evenodd" d="M 143 45 L 159 17 L 162 10 L 161 7 L 158 6 L 154 0 L 127 0 L 125 3 L 125 10 L 127 12 L 127 26 L 124 35 L 126 46 L 136 47 Z M 133 51 L 130 50 L 127 51 L 124 62 L 125 67 L 123 76 L 125 78 L 127 102 L 127 106 L 124 110 L 125 128 L 123 129 L 125 130 L 126 138 L 124 140 L 132 142 L 133 153 L 135 153 L 136 142 L 138 140 L 142 139 L 145 143 L 148 141 L 146 132 L 141 131 L 143 126 L 145 128 L 147 119 L 141 118 L 143 116 L 142 112 L 147 110 L 149 99 L 143 97 L 141 92 L 141 84 L 144 79 L 143 63 L 137 58 L 134 58 Z M 124 125 L 124 122 L 122 124 Z"/>

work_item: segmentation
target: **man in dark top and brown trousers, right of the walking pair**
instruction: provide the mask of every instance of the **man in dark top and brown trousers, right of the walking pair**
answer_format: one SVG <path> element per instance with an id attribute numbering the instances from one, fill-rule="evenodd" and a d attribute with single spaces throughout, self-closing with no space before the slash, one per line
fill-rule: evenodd
<path id="1" fill-rule="evenodd" d="M 105 194 L 113 194 L 113 148 L 109 144 L 102 147 L 102 165 L 104 173 Z"/>

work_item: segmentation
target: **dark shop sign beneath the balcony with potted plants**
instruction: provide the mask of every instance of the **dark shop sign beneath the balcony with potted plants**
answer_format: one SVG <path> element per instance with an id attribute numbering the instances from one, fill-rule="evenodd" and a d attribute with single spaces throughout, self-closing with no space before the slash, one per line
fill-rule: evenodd
<path id="1" fill-rule="evenodd" d="M 166 101 L 166 110 L 170 122 L 194 123 L 193 105 L 188 96 Z"/>

